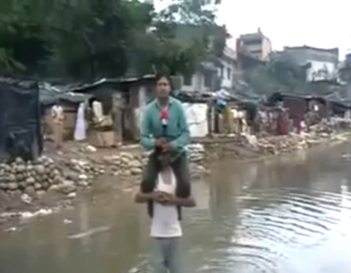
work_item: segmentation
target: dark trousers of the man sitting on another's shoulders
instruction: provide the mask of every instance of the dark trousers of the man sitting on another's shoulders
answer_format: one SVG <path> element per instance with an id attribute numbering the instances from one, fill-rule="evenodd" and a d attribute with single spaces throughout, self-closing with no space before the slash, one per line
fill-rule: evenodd
<path id="1" fill-rule="evenodd" d="M 190 186 L 190 170 L 188 159 L 186 153 L 179 155 L 176 160 L 171 163 L 172 170 L 177 179 L 176 195 L 180 198 L 187 198 L 191 194 Z M 154 190 L 156 186 L 157 176 L 161 170 L 160 161 L 157 158 L 157 153 L 152 153 L 149 156 L 148 163 L 144 169 L 143 178 L 141 180 L 140 189 L 143 193 L 150 193 Z M 152 217 L 153 215 L 153 206 L 152 202 L 148 203 L 148 212 Z M 179 218 L 180 208 L 179 208 Z"/>

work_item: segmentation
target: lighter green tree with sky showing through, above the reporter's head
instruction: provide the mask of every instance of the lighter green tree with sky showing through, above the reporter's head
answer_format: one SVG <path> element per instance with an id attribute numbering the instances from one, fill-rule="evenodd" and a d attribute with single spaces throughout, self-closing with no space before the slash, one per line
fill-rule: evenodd
<path id="1" fill-rule="evenodd" d="M 173 0 L 156 14 L 150 31 L 138 43 L 144 46 L 137 49 L 153 72 L 192 74 L 202 61 L 221 56 L 227 31 L 216 25 L 216 3 L 210 2 Z"/>

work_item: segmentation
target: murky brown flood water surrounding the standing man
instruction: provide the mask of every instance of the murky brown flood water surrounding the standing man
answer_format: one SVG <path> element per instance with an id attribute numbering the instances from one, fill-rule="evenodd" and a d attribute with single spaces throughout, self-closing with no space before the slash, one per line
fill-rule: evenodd
<path id="1" fill-rule="evenodd" d="M 183 220 L 185 273 L 351 272 L 350 153 L 343 145 L 226 161 L 194 181 L 198 206 Z M 1 232 L 0 272 L 146 273 L 148 229 L 131 191 L 103 189 Z"/>

